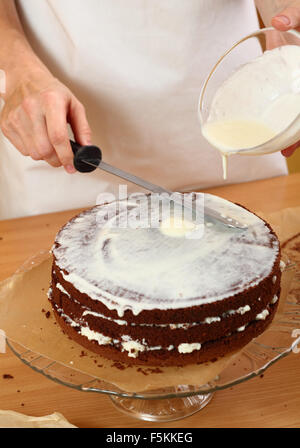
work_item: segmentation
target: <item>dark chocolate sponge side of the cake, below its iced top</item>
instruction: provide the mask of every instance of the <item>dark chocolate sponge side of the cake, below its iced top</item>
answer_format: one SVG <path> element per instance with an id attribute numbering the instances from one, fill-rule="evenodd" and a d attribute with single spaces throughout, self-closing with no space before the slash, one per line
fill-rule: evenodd
<path id="1" fill-rule="evenodd" d="M 278 241 L 269 224 L 265 224 L 273 241 Z M 58 247 L 56 242 L 55 247 Z M 141 310 L 137 315 L 126 309 L 119 316 L 115 309 L 109 309 L 101 300 L 92 299 L 66 281 L 68 274 L 71 273 L 59 268 L 53 255 L 49 300 L 57 322 L 69 337 L 114 361 L 153 366 L 187 365 L 235 352 L 270 325 L 278 306 L 274 297 L 280 295 L 280 250 L 271 272 L 242 292 L 235 294 L 233 288 L 222 300 L 201 303 L 199 298 L 196 306 L 189 306 L 187 301 L 182 308 L 157 307 Z M 92 336 L 82 334 L 82 329 L 88 329 Z M 93 334 L 103 336 L 108 342 L 99 344 Z M 141 344 L 143 348 L 128 351 L 124 349 L 124 341 Z M 198 346 L 190 353 L 188 349 L 182 353 L 181 344 Z"/>

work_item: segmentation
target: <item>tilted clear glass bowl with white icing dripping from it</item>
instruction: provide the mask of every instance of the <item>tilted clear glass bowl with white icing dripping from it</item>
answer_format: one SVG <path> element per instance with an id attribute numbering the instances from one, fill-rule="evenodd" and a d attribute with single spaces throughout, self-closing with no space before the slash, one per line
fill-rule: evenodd
<path id="1" fill-rule="evenodd" d="M 222 155 L 224 179 L 229 155 L 270 154 L 298 142 L 300 33 L 264 28 L 233 45 L 204 82 L 198 114 L 203 136 Z"/>

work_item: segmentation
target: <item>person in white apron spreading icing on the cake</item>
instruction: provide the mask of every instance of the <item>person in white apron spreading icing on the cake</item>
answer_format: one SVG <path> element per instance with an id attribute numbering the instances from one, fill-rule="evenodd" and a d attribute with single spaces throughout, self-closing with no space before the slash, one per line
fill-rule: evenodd
<path id="1" fill-rule="evenodd" d="M 266 25 L 300 26 L 300 1 L 0 0 L 0 219 L 93 205 L 122 182 L 76 172 L 70 138 L 171 190 L 221 185 L 199 90 L 218 57 L 259 28 L 256 6 Z M 232 156 L 229 181 L 285 174 L 280 153 Z"/>

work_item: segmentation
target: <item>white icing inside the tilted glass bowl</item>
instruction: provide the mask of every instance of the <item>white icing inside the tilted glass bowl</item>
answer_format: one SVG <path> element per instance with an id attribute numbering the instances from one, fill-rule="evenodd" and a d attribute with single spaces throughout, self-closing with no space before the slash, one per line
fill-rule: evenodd
<path id="1" fill-rule="evenodd" d="M 259 147 L 299 116 L 299 75 L 298 45 L 265 51 L 243 64 L 217 89 L 203 135 L 223 154 L 247 148 L 243 154 L 265 154 L 279 150 L 280 143 L 281 148 L 294 143 L 300 132 L 299 119 L 276 145 L 273 141 Z"/>

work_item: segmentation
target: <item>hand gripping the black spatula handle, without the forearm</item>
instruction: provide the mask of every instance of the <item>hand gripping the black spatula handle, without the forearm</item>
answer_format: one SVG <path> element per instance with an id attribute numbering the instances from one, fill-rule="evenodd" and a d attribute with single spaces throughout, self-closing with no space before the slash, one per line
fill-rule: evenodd
<path id="1" fill-rule="evenodd" d="M 3 134 L 24 156 L 75 172 L 68 123 L 81 145 L 91 144 L 84 106 L 47 70 L 24 74 L 6 95 Z"/>

